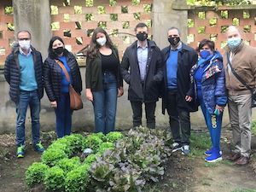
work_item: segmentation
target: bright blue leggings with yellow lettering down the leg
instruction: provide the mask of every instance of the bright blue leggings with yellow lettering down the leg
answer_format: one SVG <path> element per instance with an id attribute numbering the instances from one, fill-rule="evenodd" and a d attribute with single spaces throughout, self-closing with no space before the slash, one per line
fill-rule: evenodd
<path id="1" fill-rule="evenodd" d="M 210 132 L 212 148 L 216 148 L 220 150 L 220 134 L 221 134 L 221 125 L 222 125 L 222 117 L 223 113 L 210 114 L 206 108 L 205 103 L 200 101 L 201 111 L 205 117 L 207 128 Z"/>

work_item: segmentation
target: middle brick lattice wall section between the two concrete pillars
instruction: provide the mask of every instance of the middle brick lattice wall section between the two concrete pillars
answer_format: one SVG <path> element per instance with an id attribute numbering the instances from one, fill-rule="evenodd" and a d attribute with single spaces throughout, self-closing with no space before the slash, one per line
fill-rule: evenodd
<path id="1" fill-rule="evenodd" d="M 102 26 L 118 46 L 121 56 L 135 40 L 132 35 L 138 22 L 146 22 L 151 32 L 151 3 L 152 0 L 71 0 L 65 4 L 51 0 L 53 35 L 63 38 L 67 48 L 77 53 L 90 44 L 93 30 Z"/>

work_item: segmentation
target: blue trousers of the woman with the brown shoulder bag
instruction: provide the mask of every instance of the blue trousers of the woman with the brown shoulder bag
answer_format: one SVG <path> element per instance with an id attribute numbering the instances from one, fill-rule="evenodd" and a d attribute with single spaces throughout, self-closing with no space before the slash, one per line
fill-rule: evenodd
<path id="1" fill-rule="evenodd" d="M 69 93 L 61 93 L 59 101 L 57 101 L 56 114 L 56 133 L 61 138 L 71 133 L 72 110 L 70 108 Z"/>

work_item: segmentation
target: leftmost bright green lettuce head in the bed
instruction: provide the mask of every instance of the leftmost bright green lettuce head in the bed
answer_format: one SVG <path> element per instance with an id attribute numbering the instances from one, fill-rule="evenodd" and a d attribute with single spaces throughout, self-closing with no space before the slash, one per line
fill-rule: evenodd
<path id="1" fill-rule="evenodd" d="M 26 170 L 26 184 L 33 187 L 37 183 L 44 181 L 44 173 L 49 169 L 44 163 L 35 162 Z"/>

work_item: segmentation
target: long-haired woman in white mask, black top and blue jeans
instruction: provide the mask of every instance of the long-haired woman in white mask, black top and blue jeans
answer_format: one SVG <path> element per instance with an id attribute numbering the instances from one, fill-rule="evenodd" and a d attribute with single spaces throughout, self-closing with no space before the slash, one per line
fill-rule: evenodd
<path id="1" fill-rule="evenodd" d="M 93 104 L 95 132 L 114 131 L 117 96 L 122 96 L 119 53 L 108 33 L 97 27 L 87 50 L 85 95 Z"/>

